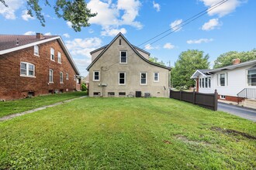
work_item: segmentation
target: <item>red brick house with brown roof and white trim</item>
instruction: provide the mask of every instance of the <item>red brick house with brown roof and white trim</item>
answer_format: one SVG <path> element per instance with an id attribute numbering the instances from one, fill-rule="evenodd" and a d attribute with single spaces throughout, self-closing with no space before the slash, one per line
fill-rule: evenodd
<path id="1" fill-rule="evenodd" d="M 60 36 L 0 35 L 0 100 L 74 91 L 79 74 Z"/>

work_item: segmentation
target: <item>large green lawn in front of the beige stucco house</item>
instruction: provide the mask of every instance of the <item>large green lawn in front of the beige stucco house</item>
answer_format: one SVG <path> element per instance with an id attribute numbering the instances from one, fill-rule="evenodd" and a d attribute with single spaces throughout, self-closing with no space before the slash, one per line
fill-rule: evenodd
<path id="1" fill-rule="evenodd" d="M 256 124 L 168 98 L 82 98 L 0 122 L 0 169 L 255 169 Z"/>

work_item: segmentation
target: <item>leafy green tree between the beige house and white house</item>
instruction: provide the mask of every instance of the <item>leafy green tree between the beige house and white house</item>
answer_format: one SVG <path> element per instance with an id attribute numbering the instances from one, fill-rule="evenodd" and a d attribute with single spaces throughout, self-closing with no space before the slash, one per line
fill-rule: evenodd
<path id="1" fill-rule="evenodd" d="M 209 55 L 203 56 L 203 51 L 189 49 L 178 56 L 174 68 L 171 70 L 173 87 L 192 87 L 195 80 L 190 79 L 195 70 L 209 69 Z"/>

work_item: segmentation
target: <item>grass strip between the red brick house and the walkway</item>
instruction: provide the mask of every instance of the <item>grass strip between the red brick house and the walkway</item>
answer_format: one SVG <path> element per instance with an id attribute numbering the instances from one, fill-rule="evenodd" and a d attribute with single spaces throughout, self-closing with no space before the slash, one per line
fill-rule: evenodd
<path id="1" fill-rule="evenodd" d="M 56 93 L 45 96 L 0 102 L 0 117 L 85 96 L 85 92 Z"/>

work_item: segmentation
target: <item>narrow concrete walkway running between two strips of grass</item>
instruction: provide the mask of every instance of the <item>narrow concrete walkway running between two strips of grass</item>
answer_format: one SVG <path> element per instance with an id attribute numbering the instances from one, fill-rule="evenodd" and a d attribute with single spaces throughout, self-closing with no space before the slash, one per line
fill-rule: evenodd
<path id="1" fill-rule="evenodd" d="M 88 96 L 84 96 L 84 97 L 88 97 Z M 65 104 L 67 102 L 71 102 L 73 100 L 81 99 L 81 98 L 84 98 L 84 97 L 78 97 L 78 98 L 74 98 L 74 99 L 70 99 L 70 100 L 64 100 L 64 101 L 58 102 L 56 104 L 50 104 L 50 105 L 39 107 L 39 108 L 36 108 L 36 109 L 33 109 L 33 110 L 23 111 L 23 112 L 17 113 L 17 114 L 10 114 L 10 115 L 7 115 L 5 117 L 0 117 L 0 121 L 8 121 L 8 120 L 10 120 L 14 117 L 19 117 L 19 116 L 22 116 L 22 115 L 25 115 L 25 114 L 31 114 L 31 113 L 36 112 L 38 110 L 44 110 L 48 107 L 54 107 L 54 106 L 57 106 L 57 105 L 60 105 L 60 104 Z"/>

